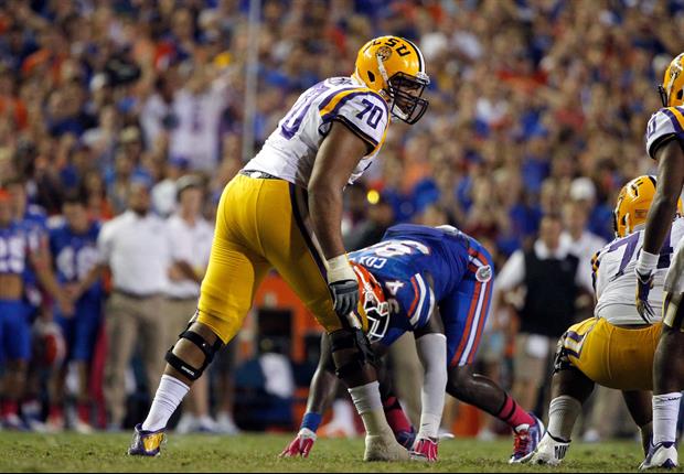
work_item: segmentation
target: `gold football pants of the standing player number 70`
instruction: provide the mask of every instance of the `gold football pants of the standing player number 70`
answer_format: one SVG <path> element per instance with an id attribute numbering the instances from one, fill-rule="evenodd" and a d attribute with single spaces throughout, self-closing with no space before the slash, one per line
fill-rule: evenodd
<path id="1" fill-rule="evenodd" d="M 271 268 L 328 332 L 342 328 L 311 231 L 304 190 L 282 180 L 238 174 L 218 203 L 196 321 L 224 343 L 231 341 Z"/>

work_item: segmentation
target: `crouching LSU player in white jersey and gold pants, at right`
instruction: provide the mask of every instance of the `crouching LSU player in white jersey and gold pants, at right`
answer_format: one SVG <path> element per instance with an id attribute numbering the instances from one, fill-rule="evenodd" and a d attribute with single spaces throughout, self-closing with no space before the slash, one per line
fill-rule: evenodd
<path id="1" fill-rule="evenodd" d="M 655 179 L 639 176 L 622 187 L 614 209 L 616 240 L 592 261 L 597 304 L 595 317 L 571 326 L 558 342 L 546 434 L 530 456 L 532 464 L 558 465 L 570 444 L 581 405 L 596 384 L 622 390 L 639 425 L 644 453 L 651 439 L 653 355 L 661 333 L 660 306 L 640 314 L 632 294 L 634 268 L 644 239 L 644 223 L 655 194 Z M 667 235 L 653 271 L 651 301 L 662 303 L 665 273 L 673 246 L 684 237 L 677 218 Z M 656 308 L 656 309 L 655 309 Z"/>

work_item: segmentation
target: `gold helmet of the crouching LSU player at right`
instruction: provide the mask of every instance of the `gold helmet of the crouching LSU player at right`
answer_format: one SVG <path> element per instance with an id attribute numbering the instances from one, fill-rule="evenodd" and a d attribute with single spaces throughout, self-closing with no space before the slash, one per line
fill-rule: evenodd
<path id="1" fill-rule="evenodd" d="M 618 203 L 613 211 L 616 237 L 632 234 L 637 226 L 646 222 L 649 208 L 655 196 L 655 176 L 634 177 L 620 190 Z M 677 202 L 677 215 L 682 215 L 682 200 Z"/>

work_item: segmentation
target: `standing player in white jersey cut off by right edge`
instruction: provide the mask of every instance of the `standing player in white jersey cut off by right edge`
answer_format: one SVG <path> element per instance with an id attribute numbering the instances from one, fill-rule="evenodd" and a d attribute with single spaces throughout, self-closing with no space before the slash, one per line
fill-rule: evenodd
<path id="1" fill-rule="evenodd" d="M 672 225 L 684 185 L 684 53 L 665 71 L 659 87 L 663 108 L 653 114 L 646 129 L 646 151 L 658 161 L 658 191 L 649 211 L 643 248 L 635 268 L 637 305 L 646 317 L 653 313 L 653 287 L 660 249 Z M 665 279 L 663 332 L 653 367 L 653 443 L 642 470 L 673 468 L 678 464 L 676 425 L 684 388 L 684 246 L 675 251 Z"/>

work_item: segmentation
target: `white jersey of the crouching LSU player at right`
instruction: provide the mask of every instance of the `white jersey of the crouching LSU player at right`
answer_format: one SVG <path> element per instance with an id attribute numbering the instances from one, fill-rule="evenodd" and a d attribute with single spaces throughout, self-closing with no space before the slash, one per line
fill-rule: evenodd
<path id="1" fill-rule="evenodd" d="M 659 322 L 663 306 L 665 274 L 672 262 L 674 247 L 683 240 L 682 237 L 684 237 L 684 218 L 678 218 L 672 224 L 660 254 L 653 289 L 649 293 L 649 302 L 654 313 L 650 320 L 642 319 L 634 304 L 637 291 L 634 267 L 643 247 L 643 230 L 616 239 L 603 247 L 594 257 L 594 283 L 598 300 L 594 314 L 611 324 Z"/>

